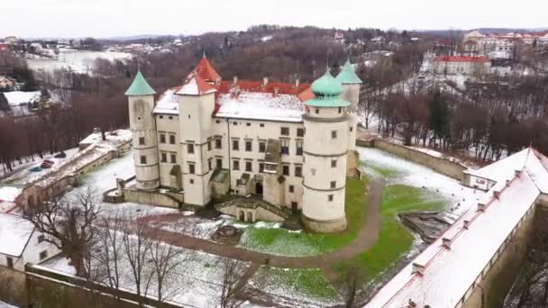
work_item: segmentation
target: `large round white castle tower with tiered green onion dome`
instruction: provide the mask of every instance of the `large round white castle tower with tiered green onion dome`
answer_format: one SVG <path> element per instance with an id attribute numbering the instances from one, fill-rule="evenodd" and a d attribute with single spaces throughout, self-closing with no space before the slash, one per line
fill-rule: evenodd
<path id="1" fill-rule="evenodd" d="M 329 71 L 312 84 L 315 98 L 306 101 L 303 222 L 311 231 L 346 228 L 344 191 L 350 103 L 339 96 L 343 87 Z"/>

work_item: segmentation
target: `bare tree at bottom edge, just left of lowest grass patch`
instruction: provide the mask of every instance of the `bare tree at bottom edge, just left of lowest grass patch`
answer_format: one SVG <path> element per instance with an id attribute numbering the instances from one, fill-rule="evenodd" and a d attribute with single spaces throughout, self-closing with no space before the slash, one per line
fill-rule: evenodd
<path id="1" fill-rule="evenodd" d="M 245 263 L 226 258 L 223 262 L 223 289 L 221 293 L 221 307 L 237 308 L 251 297 L 252 290 L 245 291 L 247 282 L 247 266 Z"/>

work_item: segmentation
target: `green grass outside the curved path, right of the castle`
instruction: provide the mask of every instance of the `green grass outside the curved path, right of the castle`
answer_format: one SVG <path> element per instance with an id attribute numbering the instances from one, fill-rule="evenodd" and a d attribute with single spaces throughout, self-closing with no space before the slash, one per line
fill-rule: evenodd
<path id="1" fill-rule="evenodd" d="M 379 277 L 382 272 L 405 255 L 415 240 L 411 231 L 399 222 L 397 214 L 412 211 L 440 211 L 445 202 L 443 197 L 425 192 L 420 188 L 403 185 L 385 187 L 380 209 L 379 240 L 359 256 L 337 265 L 334 268 L 335 271 L 340 276 L 345 276 L 349 270 L 360 268 L 366 276 L 365 280 L 371 281 Z"/>

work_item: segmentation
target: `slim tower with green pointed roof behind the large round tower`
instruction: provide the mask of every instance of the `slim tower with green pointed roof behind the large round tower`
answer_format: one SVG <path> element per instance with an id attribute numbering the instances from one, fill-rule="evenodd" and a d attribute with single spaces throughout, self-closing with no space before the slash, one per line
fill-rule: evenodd
<path id="1" fill-rule="evenodd" d="M 349 177 L 357 177 L 359 174 L 360 157 L 356 151 L 356 133 L 358 130 L 361 79 L 356 75 L 356 71 L 350 60 L 346 61 L 336 79 L 342 84 L 342 88 L 344 89 L 341 95 L 342 99 L 351 103 L 347 108 L 349 127 L 346 167 Z"/>

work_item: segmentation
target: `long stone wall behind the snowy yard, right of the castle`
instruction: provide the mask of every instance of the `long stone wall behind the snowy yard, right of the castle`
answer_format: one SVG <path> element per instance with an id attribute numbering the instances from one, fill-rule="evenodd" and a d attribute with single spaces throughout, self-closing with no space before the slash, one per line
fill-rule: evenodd
<path id="1" fill-rule="evenodd" d="M 461 164 L 448 159 L 436 158 L 420 150 L 407 148 L 387 140 L 376 139 L 373 141 L 373 145 L 377 149 L 382 149 L 402 159 L 411 160 L 417 164 L 432 168 L 447 177 L 452 177 L 459 181 L 462 181 L 462 171 L 467 169 Z"/>

